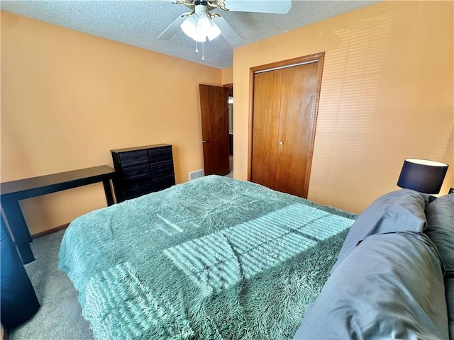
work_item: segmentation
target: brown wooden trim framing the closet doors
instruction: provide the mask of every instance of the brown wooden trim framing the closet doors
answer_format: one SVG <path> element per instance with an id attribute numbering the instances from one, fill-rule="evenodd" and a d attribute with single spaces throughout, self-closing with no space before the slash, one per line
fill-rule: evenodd
<path id="1" fill-rule="evenodd" d="M 311 114 L 311 140 L 309 142 L 309 157 L 306 164 L 306 180 L 305 187 L 306 191 L 309 191 L 309 181 L 311 177 L 311 166 L 312 166 L 312 157 L 314 154 L 314 142 L 315 142 L 315 132 L 316 132 L 316 123 L 317 115 L 319 113 L 319 99 L 320 99 L 320 89 L 321 89 L 321 75 L 323 73 L 323 62 L 325 58 L 325 52 L 314 53 L 313 55 L 306 55 L 303 57 L 292 58 L 289 60 L 282 60 L 279 62 L 272 62 L 270 64 L 263 64 L 256 67 L 250 68 L 249 73 L 249 145 L 248 145 L 248 181 L 251 180 L 252 176 L 252 163 L 253 163 L 253 107 L 254 107 L 254 76 L 259 72 L 267 72 L 274 69 L 281 69 L 285 67 L 297 66 L 300 64 L 307 64 L 310 62 L 319 62 L 318 72 L 317 72 L 317 89 L 316 89 L 316 98 L 314 100 L 314 108 Z M 307 192 L 306 195 L 307 197 Z"/>

